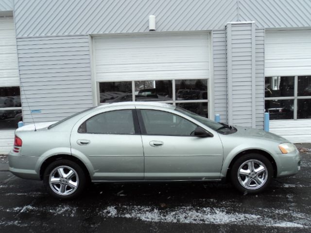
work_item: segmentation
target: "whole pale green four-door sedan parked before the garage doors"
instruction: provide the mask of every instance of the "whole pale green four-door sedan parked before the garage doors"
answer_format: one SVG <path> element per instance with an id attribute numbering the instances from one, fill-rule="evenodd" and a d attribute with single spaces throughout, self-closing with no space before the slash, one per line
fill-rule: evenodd
<path id="1" fill-rule="evenodd" d="M 229 126 L 172 104 L 111 103 L 15 131 L 9 169 L 43 180 L 58 199 L 86 183 L 231 181 L 258 193 L 300 169 L 296 147 L 273 133 Z"/>

